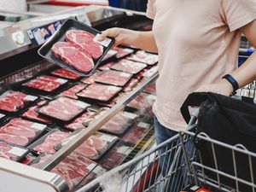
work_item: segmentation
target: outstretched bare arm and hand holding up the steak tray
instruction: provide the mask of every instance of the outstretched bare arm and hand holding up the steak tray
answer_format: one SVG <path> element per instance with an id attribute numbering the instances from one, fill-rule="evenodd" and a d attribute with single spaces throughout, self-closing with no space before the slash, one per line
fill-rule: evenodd
<path id="1" fill-rule="evenodd" d="M 127 44 L 148 52 L 157 53 L 157 46 L 154 41 L 153 32 L 137 32 L 125 28 L 110 28 L 102 32 L 98 40 L 106 37 L 115 38 L 115 45 Z"/>

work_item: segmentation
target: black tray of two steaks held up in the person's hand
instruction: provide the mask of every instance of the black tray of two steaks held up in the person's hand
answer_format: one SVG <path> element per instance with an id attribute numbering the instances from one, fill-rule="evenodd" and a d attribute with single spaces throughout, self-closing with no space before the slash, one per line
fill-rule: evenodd
<path id="1" fill-rule="evenodd" d="M 97 41 L 96 29 L 78 20 L 66 20 L 40 49 L 44 59 L 81 76 L 90 76 L 114 43 L 113 38 Z"/>

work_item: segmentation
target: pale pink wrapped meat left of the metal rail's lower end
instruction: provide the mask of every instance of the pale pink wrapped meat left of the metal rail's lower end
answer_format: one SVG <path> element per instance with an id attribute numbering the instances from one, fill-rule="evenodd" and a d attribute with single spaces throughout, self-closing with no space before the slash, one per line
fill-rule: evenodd
<path id="1" fill-rule="evenodd" d="M 62 140 L 66 139 L 68 136 L 68 132 L 63 131 L 55 131 L 48 136 L 45 137 L 44 142 L 38 144 L 33 150 L 37 151 L 38 153 L 49 153 L 55 154 L 56 150 L 54 146 L 58 143 L 61 143 Z"/>

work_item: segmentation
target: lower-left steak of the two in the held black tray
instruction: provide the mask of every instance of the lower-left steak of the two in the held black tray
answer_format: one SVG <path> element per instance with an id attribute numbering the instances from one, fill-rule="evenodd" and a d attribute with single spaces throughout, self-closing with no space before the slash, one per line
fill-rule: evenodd
<path id="1" fill-rule="evenodd" d="M 79 49 L 75 44 L 57 42 L 52 46 L 51 50 L 55 57 L 80 72 L 88 73 L 94 67 L 94 62 L 90 58 L 90 55 Z"/>

